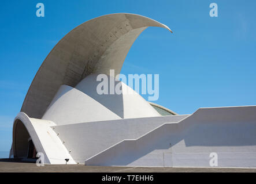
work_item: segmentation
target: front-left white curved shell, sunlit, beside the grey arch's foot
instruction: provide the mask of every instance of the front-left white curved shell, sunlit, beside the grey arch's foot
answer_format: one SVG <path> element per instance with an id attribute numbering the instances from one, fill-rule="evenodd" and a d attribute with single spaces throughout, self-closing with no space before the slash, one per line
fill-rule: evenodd
<path id="1" fill-rule="evenodd" d="M 42 119 L 54 121 L 57 125 L 64 125 L 118 120 L 121 117 L 80 90 L 62 85 Z"/>

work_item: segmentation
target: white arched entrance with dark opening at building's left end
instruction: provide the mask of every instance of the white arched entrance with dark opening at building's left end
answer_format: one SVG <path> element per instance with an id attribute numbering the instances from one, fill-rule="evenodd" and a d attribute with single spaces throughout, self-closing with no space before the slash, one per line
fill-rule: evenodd
<path id="1" fill-rule="evenodd" d="M 29 118 L 23 112 L 18 113 L 13 123 L 14 158 L 27 158 L 28 141 L 31 139 L 36 152 L 43 153 L 44 163 L 65 164 L 68 158 L 69 164 L 75 164 L 51 126 L 55 126 L 52 121 Z"/>

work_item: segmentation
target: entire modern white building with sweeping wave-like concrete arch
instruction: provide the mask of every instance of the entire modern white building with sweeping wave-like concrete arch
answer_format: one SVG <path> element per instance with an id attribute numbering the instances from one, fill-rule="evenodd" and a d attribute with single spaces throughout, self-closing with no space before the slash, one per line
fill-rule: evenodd
<path id="1" fill-rule="evenodd" d="M 149 26 L 136 14 L 84 22 L 52 49 L 13 124 L 10 157 L 48 164 L 256 167 L 256 106 L 200 108 L 178 115 L 138 93 L 98 94 L 98 74 L 119 74 Z M 116 81 L 122 90 L 133 91 Z"/>

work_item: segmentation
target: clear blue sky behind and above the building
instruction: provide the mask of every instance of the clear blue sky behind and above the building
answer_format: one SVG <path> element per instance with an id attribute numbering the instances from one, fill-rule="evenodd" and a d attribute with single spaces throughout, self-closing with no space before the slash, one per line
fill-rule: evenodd
<path id="1" fill-rule="evenodd" d="M 36 17 L 36 3 L 45 17 Z M 218 4 L 218 17 L 209 5 Z M 159 74 L 157 104 L 179 114 L 200 107 L 256 105 L 256 1 L 1 1 L 0 151 L 36 71 L 77 25 L 104 14 L 135 13 L 166 24 L 133 44 L 123 74 Z"/>

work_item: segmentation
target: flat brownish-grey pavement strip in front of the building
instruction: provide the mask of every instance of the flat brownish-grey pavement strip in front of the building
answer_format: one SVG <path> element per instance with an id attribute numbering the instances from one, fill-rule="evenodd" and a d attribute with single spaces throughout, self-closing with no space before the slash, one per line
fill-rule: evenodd
<path id="1" fill-rule="evenodd" d="M 14 160 L 13 160 L 14 161 Z M 239 172 L 256 173 L 256 168 L 182 168 L 182 167 L 111 167 L 84 165 L 45 165 L 38 167 L 35 163 L 12 162 L 10 159 L 0 159 L 0 173 L 217 173 Z"/>

